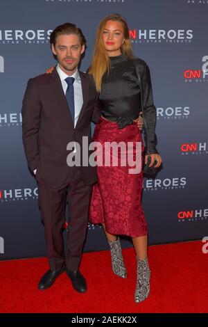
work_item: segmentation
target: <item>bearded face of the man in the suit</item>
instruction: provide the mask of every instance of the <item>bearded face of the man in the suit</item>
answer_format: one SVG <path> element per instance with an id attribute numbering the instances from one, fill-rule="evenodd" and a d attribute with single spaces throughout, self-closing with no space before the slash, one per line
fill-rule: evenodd
<path id="1" fill-rule="evenodd" d="M 52 51 L 58 58 L 62 70 L 72 75 L 76 72 L 80 56 L 85 51 L 85 45 L 80 44 L 80 39 L 76 34 L 58 35 L 55 47 L 52 45 Z"/>

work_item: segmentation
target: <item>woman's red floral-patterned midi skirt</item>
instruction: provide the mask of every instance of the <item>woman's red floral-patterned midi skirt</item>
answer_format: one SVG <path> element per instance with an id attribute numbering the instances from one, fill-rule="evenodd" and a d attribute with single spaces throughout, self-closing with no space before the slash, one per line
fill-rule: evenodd
<path id="1" fill-rule="evenodd" d="M 132 142 L 134 152 L 136 142 L 141 142 L 143 159 L 144 143 L 135 122 L 119 129 L 116 122 L 101 117 L 95 127 L 93 140 L 101 143 L 103 149 L 105 142 Z M 112 154 L 110 157 L 112 159 Z M 110 166 L 97 166 L 98 183 L 92 188 L 89 221 L 93 224 L 105 223 L 105 229 L 110 234 L 141 237 L 148 233 L 141 206 L 142 169 L 140 173 L 129 173 L 132 167 L 128 164 L 122 166 L 120 159 L 117 166 L 113 166 L 112 161 Z"/>

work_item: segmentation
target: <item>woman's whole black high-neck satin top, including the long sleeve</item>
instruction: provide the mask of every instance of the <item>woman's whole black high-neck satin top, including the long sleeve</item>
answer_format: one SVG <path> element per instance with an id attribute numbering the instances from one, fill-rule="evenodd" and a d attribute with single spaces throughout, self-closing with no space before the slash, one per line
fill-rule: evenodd
<path id="1" fill-rule="evenodd" d="M 141 79 L 142 90 L 137 73 Z M 99 95 L 103 118 L 117 122 L 119 129 L 132 124 L 141 111 L 141 92 L 146 151 L 158 153 L 155 134 L 157 115 L 149 67 L 140 58 L 130 59 L 125 54 L 110 56 L 110 70 L 103 75 Z"/>

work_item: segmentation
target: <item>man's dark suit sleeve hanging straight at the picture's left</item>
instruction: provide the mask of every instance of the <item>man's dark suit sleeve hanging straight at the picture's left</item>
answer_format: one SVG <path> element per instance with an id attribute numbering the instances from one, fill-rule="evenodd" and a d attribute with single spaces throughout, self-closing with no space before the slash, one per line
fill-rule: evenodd
<path id="1" fill-rule="evenodd" d="M 33 79 L 29 79 L 21 109 L 22 140 L 29 168 L 34 172 L 39 161 L 37 136 L 40 126 L 41 102 L 37 93 L 37 86 Z"/>

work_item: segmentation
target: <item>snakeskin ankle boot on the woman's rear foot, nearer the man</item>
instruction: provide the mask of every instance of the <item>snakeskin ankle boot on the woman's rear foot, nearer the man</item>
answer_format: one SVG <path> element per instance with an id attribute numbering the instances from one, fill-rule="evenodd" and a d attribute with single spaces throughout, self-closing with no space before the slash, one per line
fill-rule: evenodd
<path id="1" fill-rule="evenodd" d="M 122 255 L 121 243 L 119 237 L 118 239 L 116 239 L 116 241 L 109 241 L 109 240 L 107 241 L 110 246 L 112 270 L 117 276 L 126 278 L 127 273 L 123 262 L 123 255 Z"/>

